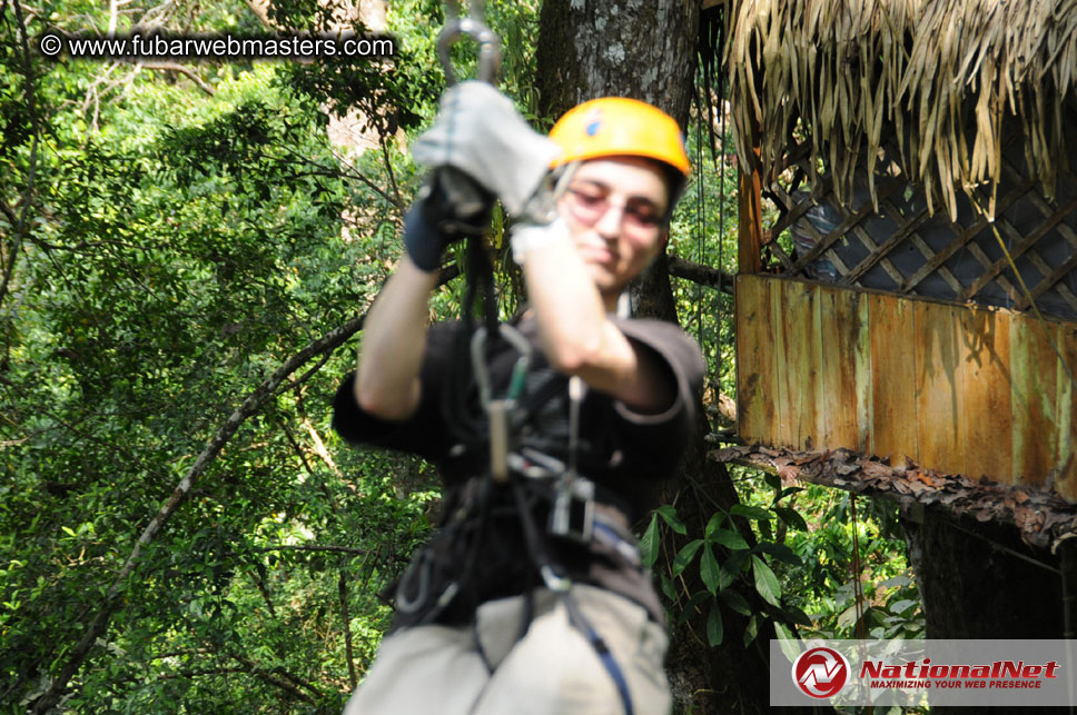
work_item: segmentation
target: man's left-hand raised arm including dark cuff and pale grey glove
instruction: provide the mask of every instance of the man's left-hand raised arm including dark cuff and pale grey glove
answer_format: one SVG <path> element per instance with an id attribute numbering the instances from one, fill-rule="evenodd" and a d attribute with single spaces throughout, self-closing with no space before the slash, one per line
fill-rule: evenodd
<path id="1" fill-rule="evenodd" d="M 492 201 L 494 191 L 510 212 L 518 212 L 557 152 L 490 85 L 463 82 L 442 95 L 434 126 L 412 145 L 416 163 L 436 173 L 405 218 L 407 255 L 363 330 L 355 398 L 366 413 L 389 420 L 414 414 L 422 393 L 429 294 L 445 246 L 488 226 L 490 206 L 474 205 Z M 461 191 L 461 182 L 468 190 Z M 462 199 L 464 206 L 457 205 Z"/>

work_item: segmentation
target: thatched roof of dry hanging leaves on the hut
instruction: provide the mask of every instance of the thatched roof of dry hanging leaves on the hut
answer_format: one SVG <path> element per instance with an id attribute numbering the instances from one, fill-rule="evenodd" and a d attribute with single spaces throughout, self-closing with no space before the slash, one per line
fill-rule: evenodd
<path id="1" fill-rule="evenodd" d="M 767 178 L 796 130 L 841 191 L 864 156 L 869 176 L 879 169 L 889 135 L 902 170 L 954 216 L 955 191 L 998 181 L 1007 115 L 1024 123 L 1028 170 L 1048 195 L 1069 160 L 1077 0 L 733 0 L 731 10 L 738 151 L 751 161 L 758 142 Z"/>

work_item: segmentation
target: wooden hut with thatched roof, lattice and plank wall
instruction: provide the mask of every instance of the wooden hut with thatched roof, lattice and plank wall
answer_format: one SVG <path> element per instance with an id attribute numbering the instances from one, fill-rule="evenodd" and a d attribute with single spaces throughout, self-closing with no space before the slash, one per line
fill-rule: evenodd
<path id="1" fill-rule="evenodd" d="M 744 446 L 720 458 L 1057 543 L 1077 502 L 1077 6 L 730 18 Z"/>

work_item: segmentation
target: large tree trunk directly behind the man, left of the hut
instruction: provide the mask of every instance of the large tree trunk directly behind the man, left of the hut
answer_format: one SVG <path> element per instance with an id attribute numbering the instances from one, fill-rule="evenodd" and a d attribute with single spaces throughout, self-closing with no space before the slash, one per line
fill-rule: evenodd
<path id="1" fill-rule="evenodd" d="M 684 127 L 692 100 L 699 13 L 698 0 L 546 0 L 536 52 L 540 113 L 556 118 L 582 101 L 623 96 L 660 107 Z M 636 316 L 676 321 L 664 252 L 635 282 L 632 298 Z M 664 539 L 665 563 L 672 562 L 686 540 L 702 536 L 715 504 L 728 509 L 738 502 L 724 465 L 707 458 L 703 434 L 708 425 L 702 410 L 700 414 L 699 438 L 663 497 L 675 504 L 689 528 L 685 537 Z M 743 526 L 742 532 L 750 534 Z M 683 577 L 691 582 L 689 576 L 685 573 Z M 698 573 L 694 579 L 700 579 Z M 684 587 L 694 593 L 702 584 L 686 583 Z M 757 613 L 764 610 L 753 587 L 739 590 Z M 708 646 L 705 618 L 707 612 L 693 614 L 673 634 L 668 673 L 675 712 L 767 711 L 767 648 L 772 629 L 762 628 L 745 648 L 748 619 L 730 613 L 724 642 L 712 648 Z"/>

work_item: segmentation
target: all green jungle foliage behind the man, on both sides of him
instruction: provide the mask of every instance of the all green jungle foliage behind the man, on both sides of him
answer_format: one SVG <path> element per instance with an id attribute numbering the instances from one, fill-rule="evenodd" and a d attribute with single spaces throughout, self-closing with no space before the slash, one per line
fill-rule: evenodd
<path id="1" fill-rule="evenodd" d="M 271 18 L 317 30 L 324 7 L 274 2 Z M 0 699 L 13 712 L 68 662 L 139 536 L 237 407 L 365 310 L 393 267 L 418 183 L 402 147 L 443 82 L 442 10 L 392 3 L 392 58 L 191 66 L 210 96 L 184 73 L 22 52 L 23 23 L 28 39 L 102 31 L 108 3 L 0 8 Z M 234 4 L 162 8 L 157 20 L 172 30 L 261 29 Z M 537 12 L 534 0 L 492 3 L 490 22 L 508 40 L 503 86 L 546 123 L 528 83 Z M 125 11 L 117 29 L 138 19 Z M 454 61 L 473 73 L 466 43 Z M 364 117 L 375 149 L 342 156 L 326 111 Z M 672 251 L 732 272 L 735 168 L 731 155 L 705 159 L 701 135 L 689 139 L 698 173 Z M 511 311 L 514 275 L 498 281 Z M 458 311 L 460 290 L 444 289 L 435 312 Z M 712 405 L 733 391 L 732 301 L 683 280 L 674 290 L 711 365 Z M 349 665 L 360 677 L 387 625 L 376 594 L 438 499 L 426 465 L 333 436 L 328 406 L 354 355 L 350 340 L 315 356 L 239 426 L 115 584 L 119 607 L 65 707 L 339 712 Z M 662 540 L 689 536 L 676 508 L 645 529 L 671 618 L 705 614 L 714 646 L 734 624 L 747 642 L 775 620 L 851 633 L 848 510 L 824 491 L 737 476 L 742 505 L 714 513 L 670 563 Z M 912 634 L 903 563 L 889 532 L 871 530 L 885 522 L 861 525 L 877 584 L 866 617 L 872 633 Z"/>

